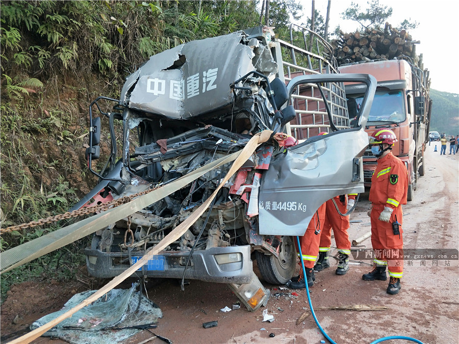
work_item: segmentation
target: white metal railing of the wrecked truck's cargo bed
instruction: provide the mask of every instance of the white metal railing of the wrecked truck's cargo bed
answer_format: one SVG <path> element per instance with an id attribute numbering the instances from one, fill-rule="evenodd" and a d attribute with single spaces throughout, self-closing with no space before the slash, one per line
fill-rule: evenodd
<path id="1" fill-rule="evenodd" d="M 295 28 L 297 30 L 294 30 Z M 299 39 L 297 38 L 298 35 L 301 35 Z M 308 36 L 313 37 L 317 54 L 313 52 L 312 46 L 310 49 L 308 48 Z M 290 42 L 279 39 L 277 41 L 282 50 L 285 82 L 289 82 L 293 77 L 299 75 L 338 73 L 337 61 L 333 56 L 333 47 L 317 33 L 291 24 Z M 297 41 L 302 43 L 304 48 L 295 45 L 299 44 Z M 281 74 L 280 71 L 279 74 Z M 320 86 L 303 84 L 296 88 L 288 105 L 294 106 L 296 118 L 290 122 L 287 130 L 290 130 L 291 135 L 298 140 L 316 136 L 321 131 L 330 132 L 330 130 L 351 128 L 343 83 L 323 83 Z M 331 118 L 327 113 L 327 107 Z"/>

